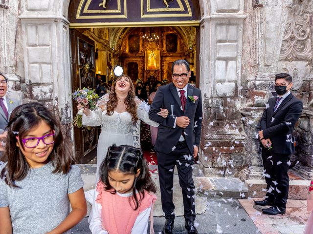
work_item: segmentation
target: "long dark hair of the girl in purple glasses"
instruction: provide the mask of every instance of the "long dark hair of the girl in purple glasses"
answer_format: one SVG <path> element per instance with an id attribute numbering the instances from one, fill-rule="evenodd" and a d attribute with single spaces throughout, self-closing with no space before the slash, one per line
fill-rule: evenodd
<path id="1" fill-rule="evenodd" d="M 2 159 L 7 161 L 7 164 L 2 169 L 0 178 L 4 179 L 10 187 L 18 187 L 15 185 L 15 181 L 23 180 L 30 170 L 22 151 L 16 146 L 18 141 L 16 137 L 19 137 L 19 143 L 25 149 L 22 138 L 41 121 L 45 121 L 51 130 L 54 130 L 54 145 L 49 156 L 54 167 L 53 173 L 67 174 L 70 166 L 76 162 L 68 147 L 69 144 L 63 138 L 60 123 L 56 117 L 39 102 L 22 104 L 16 107 L 10 116 Z"/>

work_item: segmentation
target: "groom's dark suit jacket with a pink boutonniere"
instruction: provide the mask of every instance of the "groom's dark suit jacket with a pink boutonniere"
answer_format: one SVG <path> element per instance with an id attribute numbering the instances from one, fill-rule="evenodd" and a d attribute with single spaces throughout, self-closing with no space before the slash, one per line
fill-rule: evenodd
<path id="1" fill-rule="evenodd" d="M 197 96 L 198 100 L 193 102 L 188 96 Z M 174 105 L 173 116 L 171 105 Z M 169 115 L 166 118 L 158 116 L 156 113 L 160 108 L 167 109 Z M 182 129 L 176 125 L 174 128 L 175 117 L 187 116 L 190 119 L 189 125 Z M 187 101 L 185 112 L 182 111 L 181 102 L 177 89 L 173 83 L 160 86 L 156 92 L 156 96 L 149 111 L 149 118 L 159 123 L 156 146 L 158 152 L 169 154 L 173 151 L 173 147 L 179 141 L 181 133 L 184 131 L 185 140 L 191 154 L 194 152 L 194 145 L 200 145 L 201 137 L 201 124 L 202 124 L 202 101 L 201 91 L 198 88 L 188 84 L 187 88 Z"/>

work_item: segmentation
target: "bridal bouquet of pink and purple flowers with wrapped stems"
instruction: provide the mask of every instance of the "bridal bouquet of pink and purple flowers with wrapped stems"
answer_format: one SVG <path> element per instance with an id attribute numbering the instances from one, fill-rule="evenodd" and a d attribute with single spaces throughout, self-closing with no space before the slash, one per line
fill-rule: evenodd
<path id="1" fill-rule="evenodd" d="M 96 94 L 94 89 L 89 88 L 83 88 L 83 89 L 77 89 L 72 93 L 72 98 L 75 100 L 78 104 L 83 105 L 85 107 L 89 106 L 89 109 L 92 111 L 97 104 L 97 101 L 99 99 L 99 96 Z M 83 117 L 84 110 L 81 109 L 78 111 L 77 115 L 72 121 L 72 124 L 77 127 L 82 127 L 82 117 Z"/>

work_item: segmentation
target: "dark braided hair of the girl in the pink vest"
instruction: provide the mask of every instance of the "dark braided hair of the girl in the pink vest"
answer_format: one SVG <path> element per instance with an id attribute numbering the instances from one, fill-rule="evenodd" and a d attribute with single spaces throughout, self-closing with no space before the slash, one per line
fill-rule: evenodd
<path id="1" fill-rule="evenodd" d="M 124 174 L 135 175 L 140 170 L 139 176 L 135 177 L 133 184 L 134 210 L 140 206 L 144 198 L 144 191 L 156 193 L 156 185 L 149 174 L 147 161 L 143 158 L 141 149 L 129 145 L 116 146 L 115 144 L 108 149 L 107 156 L 100 166 L 100 180 L 105 185 L 105 190 L 115 194 L 116 191 L 109 183 L 108 174 L 110 171 L 120 171 Z M 136 194 L 136 191 L 138 193 Z M 130 204 L 131 200 L 130 200 Z"/>

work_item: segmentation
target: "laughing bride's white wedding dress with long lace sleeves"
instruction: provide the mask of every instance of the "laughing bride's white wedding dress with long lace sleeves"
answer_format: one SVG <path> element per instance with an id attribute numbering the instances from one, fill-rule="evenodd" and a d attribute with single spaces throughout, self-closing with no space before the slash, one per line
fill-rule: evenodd
<path id="1" fill-rule="evenodd" d="M 90 111 L 89 116 L 83 114 L 82 123 L 86 126 L 100 126 L 101 133 L 98 140 L 97 148 L 97 172 L 96 182 L 99 177 L 99 167 L 101 162 L 107 155 L 109 146 L 112 144 L 116 145 L 131 145 L 134 144 L 134 123 L 132 116 L 129 112 L 118 113 L 113 112 L 111 116 L 106 115 L 107 113 L 107 101 L 109 100 L 109 94 L 101 97 L 97 102 L 97 108 Z M 145 123 L 157 127 L 158 123 L 149 119 L 148 112 L 150 106 L 146 102 L 142 102 L 139 98 L 135 97 L 137 116 Z M 140 127 L 140 126 L 139 126 Z"/>

